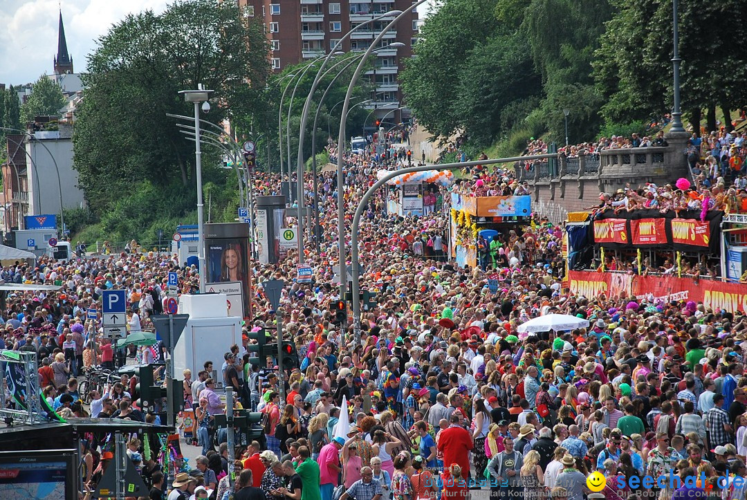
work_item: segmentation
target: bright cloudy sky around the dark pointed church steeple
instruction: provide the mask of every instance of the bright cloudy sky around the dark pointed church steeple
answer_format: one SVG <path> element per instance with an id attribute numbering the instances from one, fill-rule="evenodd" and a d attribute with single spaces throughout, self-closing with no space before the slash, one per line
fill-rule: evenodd
<path id="1" fill-rule="evenodd" d="M 0 0 L 0 83 L 25 84 L 52 73 L 62 9 L 67 49 L 85 70 L 96 40 L 128 13 L 160 13 L 167 0 Z"/>

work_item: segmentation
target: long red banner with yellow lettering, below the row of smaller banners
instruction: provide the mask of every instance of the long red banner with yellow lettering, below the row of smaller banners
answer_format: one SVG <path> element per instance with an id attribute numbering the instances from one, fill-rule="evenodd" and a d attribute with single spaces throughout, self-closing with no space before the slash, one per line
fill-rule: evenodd
<path id="1" fill-rule="evenodd" d="M 699 280 L 673 276 L 638 276 L 637 274 L 570 271 L 568 281 L 571 294 L 596 298 L 636 297 L 648 301 L 661 299 L 693 300 L 702 302 L 708 309 L 723 309 L 727 312 L 747 312 L 747 285 L 722 281 Z"/>

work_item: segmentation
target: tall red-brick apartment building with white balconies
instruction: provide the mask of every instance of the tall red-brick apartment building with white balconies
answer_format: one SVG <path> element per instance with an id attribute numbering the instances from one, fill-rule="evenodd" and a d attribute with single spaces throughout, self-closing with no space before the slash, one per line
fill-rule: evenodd
<path id="1" fill-rule="evenodd" d="M 280 72 L 289 64 L 311 61 L 329 51 L 356 25 L 391 10 L 405 10 L 412 0 L 238 0 L 249 7 L 249 15 L 262 16 L 270 40 L 270 61 Z M 362 52 L 388 25 L 394 16 L 385 17 L 350 35 L 341 46 L 343 52 Z M 366 73 L 375 82 L 376 95 L 366 108 L 375 110 L 376 117 L 385 117 L 391 126 L 409 117 L 409 110 L 400 108 L 402 93 L 397 74 L 404 60 L 412 56 L 412 45 L 418 33 L 418 13 L 413 11 L 400 19 L 382 39 L 380 46 L 400 42 L 399 49 L 376 52 L 374 69 Z"/>

